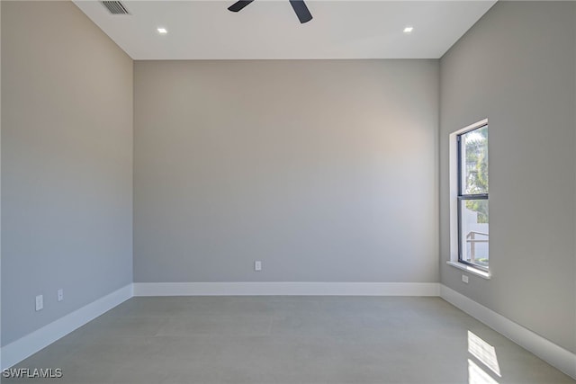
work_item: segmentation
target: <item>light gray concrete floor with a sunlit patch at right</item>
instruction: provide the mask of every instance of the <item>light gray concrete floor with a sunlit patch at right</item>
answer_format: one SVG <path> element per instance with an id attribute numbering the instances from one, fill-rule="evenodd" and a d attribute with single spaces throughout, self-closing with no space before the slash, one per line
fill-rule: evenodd
<path id="1" fill-rule="evenodd" d="M 3 383 L 576 383 L 438 298 L 133 298 Z"/>

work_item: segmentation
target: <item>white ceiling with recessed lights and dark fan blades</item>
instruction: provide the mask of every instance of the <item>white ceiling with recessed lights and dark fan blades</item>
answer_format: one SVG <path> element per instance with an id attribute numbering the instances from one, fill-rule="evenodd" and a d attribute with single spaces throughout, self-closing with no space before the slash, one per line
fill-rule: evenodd
<path id="1" fill-rule="evenodd" d="M 130 15 L 94 0 L 75 4 L 131 58 L 440 58 L 496 0 L 306 2 L 301 24 L 288 0 L 126 1 Z M 414 31 L 405 34 L 405 26 Z M 158 27 L 168 33 L 160 35 Z"/>

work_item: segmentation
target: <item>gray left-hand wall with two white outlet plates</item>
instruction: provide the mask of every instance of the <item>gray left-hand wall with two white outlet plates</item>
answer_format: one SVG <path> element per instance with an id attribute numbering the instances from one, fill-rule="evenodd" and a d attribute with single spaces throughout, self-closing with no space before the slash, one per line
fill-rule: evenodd
<path id="1" fill-rule="evenodd" d="M 132 281 L 132 61 L 72 3 L 5 1 L 2 60 L 9 344 Z"/>

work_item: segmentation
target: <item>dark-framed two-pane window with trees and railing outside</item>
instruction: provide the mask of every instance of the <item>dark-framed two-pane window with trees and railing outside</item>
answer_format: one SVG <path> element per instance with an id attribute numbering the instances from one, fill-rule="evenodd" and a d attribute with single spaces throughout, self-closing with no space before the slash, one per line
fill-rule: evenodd
<path id="1" fill-rule="evenodd" d="M 488 121 L 456 134 L 458 262 L 488 271 Z"/>

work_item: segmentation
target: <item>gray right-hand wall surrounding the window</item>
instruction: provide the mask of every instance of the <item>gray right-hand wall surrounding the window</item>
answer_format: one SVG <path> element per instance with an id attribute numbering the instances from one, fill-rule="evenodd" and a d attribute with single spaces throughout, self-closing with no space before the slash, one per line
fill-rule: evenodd
<path id="1" fill-rule="evenodd" d="M 441 281 L 576 352 L 576 3 L 499 2 L 441 60 Z M 448 135 L 490 125 L 491 281 L 449 258 Z"/>

